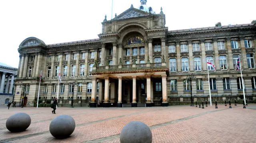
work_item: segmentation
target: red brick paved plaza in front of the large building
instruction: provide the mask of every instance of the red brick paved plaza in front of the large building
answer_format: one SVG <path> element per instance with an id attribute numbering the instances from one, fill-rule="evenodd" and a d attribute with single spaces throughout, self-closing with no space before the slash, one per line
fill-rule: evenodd
<path id="1" fill-rule="evenodd" d="M 154 143 L 255 143 L 256 104 L 232 109 L 224 104 L 205 109 L 190 106 L 152 108 L 12 108 L 0 107 L 0 143 L 119 143 L 122 127 L 130 121 L 146 123 Z M 30 115 L 30 127 L 21 133 L 6 129 L 12 114 Z M 66 114 L 76 121 L 67 139 L 55 139 L 49 131 L 53 118 Z"/>

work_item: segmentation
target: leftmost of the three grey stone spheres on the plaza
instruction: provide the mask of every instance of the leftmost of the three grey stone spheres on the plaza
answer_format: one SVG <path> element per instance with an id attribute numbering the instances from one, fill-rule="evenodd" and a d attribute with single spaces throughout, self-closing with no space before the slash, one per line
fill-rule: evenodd
<path id="1" fill-rule="evenodd" d="M 11 132 L 25 131 L 31 123 L 31 118 L 26 113 L 16 113 L 6 121 L 6 128 Z"/>

